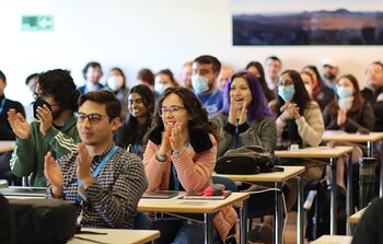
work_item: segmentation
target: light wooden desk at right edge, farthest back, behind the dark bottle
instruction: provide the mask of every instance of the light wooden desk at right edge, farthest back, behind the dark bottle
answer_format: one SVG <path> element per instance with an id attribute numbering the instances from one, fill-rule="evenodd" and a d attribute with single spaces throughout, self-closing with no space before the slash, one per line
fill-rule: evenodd
<path id="1" fill-rule="evenodd" d="M 370 132 L 368 135 L 361 133 L 347 133 L 345 131 L 338 130 L 326 130 L 322 137 L 325 141 L 339 141 L 339 142 L 360 142 L 367 143 L 368 156 L 373 156 L 373 143 L 383 140 L 383 132 Z M 383 152 L 381 149 L 381 162 L 383 162 Z M 380 179 L 380 190 L 379 196 L 383 197 L 383 166 L 381 166 L 381 179 Z"/>

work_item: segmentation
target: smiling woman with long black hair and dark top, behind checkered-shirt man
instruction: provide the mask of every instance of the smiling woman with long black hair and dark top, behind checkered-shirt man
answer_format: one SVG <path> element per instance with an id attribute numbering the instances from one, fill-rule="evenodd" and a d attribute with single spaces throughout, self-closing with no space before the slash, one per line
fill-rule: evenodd
<path id="1" fill-rule="evenodd" d="M 147 85 L 139 84 L 131 88 L 128 103 L 130 114 L 116 131 L 116 144 L 142 159 L 143 136 L 150 127 L 150 117 L 153 115 L 154 95 Z"/>

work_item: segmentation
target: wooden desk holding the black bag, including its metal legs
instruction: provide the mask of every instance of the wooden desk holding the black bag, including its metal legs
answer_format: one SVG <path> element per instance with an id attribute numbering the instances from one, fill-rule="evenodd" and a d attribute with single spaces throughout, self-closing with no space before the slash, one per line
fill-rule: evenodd
<path id="1" fill-rule="evenodd" d="M 229 175 L 229 174 L 217 174 L 217 176 L 228 177 L 237 182 L 251 182 L 251 183 L 260 183 L 269 182 L 275 183 L 275 187 L 282 190 L 282 183 L 293 178 L 304 172 L 304 166 L 282 166 L 283 172 L 274 172 L 274 173 L 262 173 L 253 175 Z M 298 179 L 298 228 L 297 228 L 297 239 L 298 243 L 303 243 L 303 188 L 301 187 L 301 179 Z M 281 195 L 276 191 L 276 208 L 275 208 L 275 243 L 282 243 L 282 199 Z"/>

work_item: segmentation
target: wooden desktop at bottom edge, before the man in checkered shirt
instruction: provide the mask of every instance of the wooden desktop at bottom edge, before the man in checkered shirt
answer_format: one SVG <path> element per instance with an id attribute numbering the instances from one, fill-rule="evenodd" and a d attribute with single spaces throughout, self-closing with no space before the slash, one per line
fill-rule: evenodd
<path id="1" fill-rule="evenodd" d="M 104 234 L 76 234 L 76 237 L 88 239 L 91 241 L 71 239 L 68 244 L 80 243 L 108 243 L 108 244 L 139 244 L 148 243 L 160 237 L 160 231 L 143 231 L 143 230 L 121 230 L 121 229 L 90 229 L 83 228 L 82 231 L 92 231 L 106 233 Z"/>

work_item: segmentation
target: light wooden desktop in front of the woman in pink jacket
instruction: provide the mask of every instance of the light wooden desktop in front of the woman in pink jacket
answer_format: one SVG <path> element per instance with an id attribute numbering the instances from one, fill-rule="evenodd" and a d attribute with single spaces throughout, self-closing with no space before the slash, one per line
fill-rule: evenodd
<path id="1" fill-rule="evenodd" d="M 143 212 L 174 212 L 174 213 L 214 213 L 227 206 L 242 202 L 248 198 L 248 193 L 232 193 L 223 200 L 186 200 L 181 193 L 170 199 L 141 198 L 138 210 Z"/>

